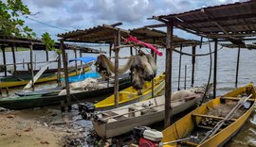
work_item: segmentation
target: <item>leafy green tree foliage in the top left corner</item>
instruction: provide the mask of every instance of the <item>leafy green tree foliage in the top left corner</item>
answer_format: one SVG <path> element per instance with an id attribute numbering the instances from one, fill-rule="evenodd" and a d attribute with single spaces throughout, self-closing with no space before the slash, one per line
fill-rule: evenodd
<path id="1" fill-rule="evenodd" d="M 36 34 L 25 25 L 21 16 L 29 15 L 30 11 L 22 0 L 0 1 L 0 34 L 16 37 L 35 37 Z"/>

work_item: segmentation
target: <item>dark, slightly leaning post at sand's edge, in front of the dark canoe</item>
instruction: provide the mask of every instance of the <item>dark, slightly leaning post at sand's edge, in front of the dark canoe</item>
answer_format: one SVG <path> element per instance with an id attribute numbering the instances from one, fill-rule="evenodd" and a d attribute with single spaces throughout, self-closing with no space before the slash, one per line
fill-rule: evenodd
<path id="1" fill-rule="evenodd" d="M 64 63 L 64 81 L 65 81 L 65 89 L 66 89 L 66 102 L 67 102 L 68 111 L 70 111 L 72 109 L 72 107 L 71 107 L 71 99 L 70 99 L 70 89 L 69 89 L 69 84 L 68 84 L 67 60 L 65 57 L 64 41 L 63 40 L 61 40 L 60 47 L 62 50 L 63 63 Z"/>

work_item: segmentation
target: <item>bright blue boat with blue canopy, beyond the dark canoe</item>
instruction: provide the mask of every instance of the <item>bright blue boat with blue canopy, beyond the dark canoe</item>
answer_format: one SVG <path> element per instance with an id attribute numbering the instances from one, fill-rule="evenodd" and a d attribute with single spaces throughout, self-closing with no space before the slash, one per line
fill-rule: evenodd
<path id="1" fill-rule="evenodd" d="M 79 57 L 79 58 L 75 58 L 75 59 L 70 59 L 69 63 L 72 61 L 82 61 L 85 64 L 88 64 L 88 63 L 94 62 L 96 59 L 97 59 L 97 57 Z M 83 73 L 83 74 L 79 74 L 79 75 L 74 75 L 74 76 L 68 77 L 68 82 L 69 83 L 79 82 L 88 77 L 99 78 L 99 77 L 101 77 L 101 74 L 97 73 L 97 72 L 87 72 L 87 73 Z M 61 79 L 61 81 L 64 81 L 64 77 Z"/>

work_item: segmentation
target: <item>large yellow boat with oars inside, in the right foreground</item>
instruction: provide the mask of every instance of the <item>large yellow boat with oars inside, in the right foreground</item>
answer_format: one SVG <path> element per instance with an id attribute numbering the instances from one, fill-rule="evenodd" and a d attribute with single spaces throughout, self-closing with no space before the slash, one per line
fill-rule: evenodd
<path id="1" fill-rule="evenodd" d="M 249 96 L 241 97 L 243 94 Z M 255 89 L 249 84 L 194 109 L 163 131 L 163 146 L 224 145 L 247 121 L 254 109 L 255 97 Z"/>

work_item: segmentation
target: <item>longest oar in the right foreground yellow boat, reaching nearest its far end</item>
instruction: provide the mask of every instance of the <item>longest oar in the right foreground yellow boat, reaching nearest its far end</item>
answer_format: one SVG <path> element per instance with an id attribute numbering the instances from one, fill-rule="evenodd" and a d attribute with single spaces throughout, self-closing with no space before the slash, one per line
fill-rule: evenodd
<path id="1" fill-rule="evenodd" d="M 221 126 L 224 124 L 224 122 L 225 122 L 225 121 L 228 121 L 228 120 L 230 119 L 229 117 L 231 116 L 231 114 L 232 114 L 236 109 L 238 109 L 240 106 L 242 106 L 245 102 L 247 102 L 247 100 L 248 100 L 251 96 L 252 96 L 252 94 L 250 94 L 248 97 L 241 98 L 241 99 L 238 101 L 237 105 L 234 106 L 234 107 L 229 111 L 229 114 L 225 117 L 225 119 L 222 120 L 222 121 L 220 121 L 220 122 L 218 122 L 218 123 L 213 127 L 213 129 L 210 130 L 210 133 L 207 134 L 207 136 L 206 136 L 204 139 L 202 139 L 202 140 L 200 141 L 200 143 L 202 143 L 202 142 L 204 142 L 206 139 L 209 139 L 209 138 L 211 138 L 212 136 L 214 136 L 214 135 L 217 133 L 217 131 L 221 128 Z"/>

